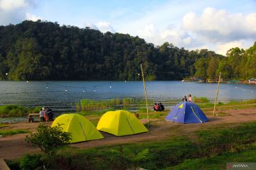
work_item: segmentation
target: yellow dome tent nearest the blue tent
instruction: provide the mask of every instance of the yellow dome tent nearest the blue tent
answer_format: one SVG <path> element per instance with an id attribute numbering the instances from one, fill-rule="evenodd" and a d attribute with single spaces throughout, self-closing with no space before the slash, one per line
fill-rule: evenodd
<path id="1" fill-rule="evenodd" d="M 99 120 L 97 130 L 116 136 L 134 135 L 148 132 L 145 126 L 128 111 L 108 111 Z"/>

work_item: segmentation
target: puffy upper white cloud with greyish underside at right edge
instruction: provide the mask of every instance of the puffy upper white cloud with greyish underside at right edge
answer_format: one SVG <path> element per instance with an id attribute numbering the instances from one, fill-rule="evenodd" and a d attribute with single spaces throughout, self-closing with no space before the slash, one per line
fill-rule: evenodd
<path id="1" fill-rule="evenodd" d="M 190 12 L 183 16 L 183 29 L 205 42 L 229 42 L 256 38 L 256 13 L 228 13 L 205 8 L 201 16 Z"/>

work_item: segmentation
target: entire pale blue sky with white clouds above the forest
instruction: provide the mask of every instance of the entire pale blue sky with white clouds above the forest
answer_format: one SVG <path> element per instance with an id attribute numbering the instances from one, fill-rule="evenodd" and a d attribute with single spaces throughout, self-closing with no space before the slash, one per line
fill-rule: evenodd
<path id="1" fill-rule="evenodd" d="M 225 55 L 256 41 L 256 0 L 0 0 L 0 25 L 57 22 Z"/>

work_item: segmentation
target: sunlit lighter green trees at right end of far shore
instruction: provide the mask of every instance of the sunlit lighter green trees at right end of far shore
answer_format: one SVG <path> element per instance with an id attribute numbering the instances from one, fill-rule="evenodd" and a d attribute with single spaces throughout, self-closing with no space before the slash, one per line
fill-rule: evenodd
<path id="1" fill-rule="evenodd" d="M 196 77 L 216 79 L 221 72 L 224 79 L 248 80 L 256 78 L 256 42 L 247 50 L 234 47 L 227 57 L 208 57 L 194 64 Z"/>

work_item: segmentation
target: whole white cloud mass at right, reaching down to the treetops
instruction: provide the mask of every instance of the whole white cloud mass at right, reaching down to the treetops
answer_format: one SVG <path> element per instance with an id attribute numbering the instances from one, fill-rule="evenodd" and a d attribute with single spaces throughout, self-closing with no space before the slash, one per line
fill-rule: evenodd
<path id="1" fill-rule="evenodd" d="M 232 47 L 250 47 L 256 40 L 256 13 L 245 15 L 205 8 L 201 15 L 184 14 L 181 26 L 166 24 L 169 24 L 167 28 L 160 28 L 154 22 L 145 25 L 137 30 L 137 35 L 155 45 L 170 42 L 188 50 L 207 48 L 221 55 Z"/>

